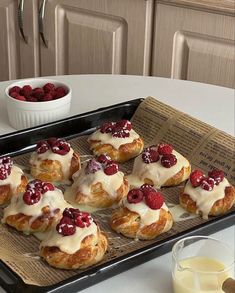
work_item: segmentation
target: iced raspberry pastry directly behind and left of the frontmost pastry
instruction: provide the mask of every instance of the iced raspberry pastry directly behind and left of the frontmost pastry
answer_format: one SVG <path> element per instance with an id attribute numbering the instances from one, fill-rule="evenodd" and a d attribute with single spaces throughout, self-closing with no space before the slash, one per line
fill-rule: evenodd
<path id="1" fill-rule="evenodd" d="M 49 182 L 33 180 L 26 191 L 13 197 L 4 209 L 3 223 L 24 233 L 45 232 L 62 216 L 62 211 L 70 206 L 60 189 Z"/>

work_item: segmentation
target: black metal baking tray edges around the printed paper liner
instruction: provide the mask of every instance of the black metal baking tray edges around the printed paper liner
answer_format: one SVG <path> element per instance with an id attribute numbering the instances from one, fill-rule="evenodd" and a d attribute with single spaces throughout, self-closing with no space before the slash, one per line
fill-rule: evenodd
<path id="1" fill-rule="evenodd" d="M 135 99 L 38 127 L 1 135 L 0 156 L 10 155 L 14 157 L 27 153 L 32 151 L 38 140 L 52 136 L 71 139 L 89 134 L 107 120 L 131 119 L 141 101 L 142 99 Z M 0 285 L 7 292 L 77 292 L 169 252 L 173 244 L 185 236 L 208 235 L 233 225 L 234 221 L 235 212 L 231 211 L 226 215 L 216 217 L 209 222 L 177 233 L 177 235 L 169 236 L 167 239 L 157 243 L 147 244 L 146 242 L 146 246 L 141 249 L 111 259 L 104 264 L 88 268 L 84 272 L 51 286 L 27 285 L 7 265 L 0 261 Z"/>

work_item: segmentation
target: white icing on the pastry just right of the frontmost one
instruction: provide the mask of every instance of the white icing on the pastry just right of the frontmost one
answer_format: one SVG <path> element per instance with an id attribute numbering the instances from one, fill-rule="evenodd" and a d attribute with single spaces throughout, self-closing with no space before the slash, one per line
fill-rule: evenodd
<path id="1" fill-rule="evenodd" d="M 124 199 L 123 206 L 126 207 L 128 210 L 140 215 L 141 226 L 147 226 L 157 222 L 159 220 L 161 209 L 168 211 L 168 207 L 165 203 L 163 203 L 160 209 L 153 210 L 148 207 L 144 201 L 141 201 L 139 203 L 129 203 L 127 199 Z"/>

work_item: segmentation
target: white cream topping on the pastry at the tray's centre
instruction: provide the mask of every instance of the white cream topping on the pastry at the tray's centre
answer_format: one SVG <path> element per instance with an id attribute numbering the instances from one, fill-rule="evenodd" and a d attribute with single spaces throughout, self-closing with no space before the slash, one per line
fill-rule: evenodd
<path id="1" fill-rule="evenodd" d="M 74 176 L 74 183 L 72 189 L 77 189 L 88 197 L 91 194 L 91 186 L 96 183 L 102 183 L 102 188 L 111 196 L 117 196 L 117 190 L 123 184 L 124 174 L 118 171 L 113 175 L 106 175 L 103 170 L 98 170 L 95 173 L 85 174 L 86 165 L 77 171 Z"/>

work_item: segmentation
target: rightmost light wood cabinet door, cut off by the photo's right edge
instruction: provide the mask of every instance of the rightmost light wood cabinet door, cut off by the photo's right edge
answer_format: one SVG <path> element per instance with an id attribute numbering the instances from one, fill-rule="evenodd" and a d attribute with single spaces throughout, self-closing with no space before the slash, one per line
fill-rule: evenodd
<path id="1" fill-rule="evenodd" d="M 235 86 L 235 18 L 156 2 L 152 75 Z"/>

